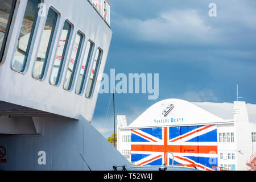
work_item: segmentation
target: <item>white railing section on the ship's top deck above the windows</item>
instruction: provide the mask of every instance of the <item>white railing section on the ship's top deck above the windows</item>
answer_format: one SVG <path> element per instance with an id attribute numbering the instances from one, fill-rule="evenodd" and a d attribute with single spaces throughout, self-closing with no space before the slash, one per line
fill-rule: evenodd
<path id="1" fill-rule="evenodd" d="M 90 0 L 94 9 L 102 16 L 106 23 L 110 26 L 110 3 L 108 0 Z"/>

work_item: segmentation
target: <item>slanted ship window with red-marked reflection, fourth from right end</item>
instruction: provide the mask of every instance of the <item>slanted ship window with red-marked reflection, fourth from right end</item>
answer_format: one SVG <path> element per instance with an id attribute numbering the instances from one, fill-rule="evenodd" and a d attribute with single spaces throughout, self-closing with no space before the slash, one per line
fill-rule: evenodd
<path id="1" fill-rule="evenodd" d="M 60 80 L 60 73 L 63 67 L 63 60 L 64 60 L 66 49 L 67 49 L 71 27 L 72 27 L 71 24 L 68 23 L 66 20 L 64 23 L 63 31 L 61 32 L 60 42 L 57 48 L 57 53 L 56 53 L 55 61 L 53 65 L 52 76 L 50 80 L 52 85 L 57 85 Z"/>

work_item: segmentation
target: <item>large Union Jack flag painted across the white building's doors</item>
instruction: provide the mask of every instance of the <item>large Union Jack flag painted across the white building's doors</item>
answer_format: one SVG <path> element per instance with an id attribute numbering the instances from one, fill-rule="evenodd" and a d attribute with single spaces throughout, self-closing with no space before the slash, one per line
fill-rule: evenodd
<path id="1" fill-rule="evenodd" d="M 131 162 L 160 166 L 167 152 L 174 165 L 212 170 L 217 166 L 217 126 L 131 129 Z M 172 164 L 168 154 L 166 165 Z"/>

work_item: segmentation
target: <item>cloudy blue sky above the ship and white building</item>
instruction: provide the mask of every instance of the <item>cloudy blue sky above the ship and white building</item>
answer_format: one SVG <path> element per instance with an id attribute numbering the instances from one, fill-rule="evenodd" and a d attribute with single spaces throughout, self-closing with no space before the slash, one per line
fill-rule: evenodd
<path id="1" fill-rule="evenodd" d="M 217 16 L 210 17 L 209 3 Z M 112 43 L 105 73 L 159 73 L 159 98 L 115 94 L 115 112 L 133 122 L 167 98 L 256 104 L 256 1 L 112 0 Z M 110 94 L 99 94 L 93 126 L 113 133 Z M 108 111 L 108 114 L 107 114 Z"/>

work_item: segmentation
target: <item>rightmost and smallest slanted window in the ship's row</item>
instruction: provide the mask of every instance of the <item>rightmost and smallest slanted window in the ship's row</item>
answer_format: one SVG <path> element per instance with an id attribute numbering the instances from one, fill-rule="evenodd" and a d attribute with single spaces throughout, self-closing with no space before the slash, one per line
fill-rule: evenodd
<path id="1" fill-rule="evenodd" d="M 93 67 L 92 67 L 92 72 L 90 73 L 90 78 L 89 78 L 89 84 L 86 90 L 86 97 L 91 98 L 93 94 L 93 90 L 96 85 L 97 81 L 97 74 L 98 70 L 100 69 L 100 62 L 101 62 L 101 55 L 102 51 L 100 48 L 97 49 L 95 59 L 93 61 Z"/>

